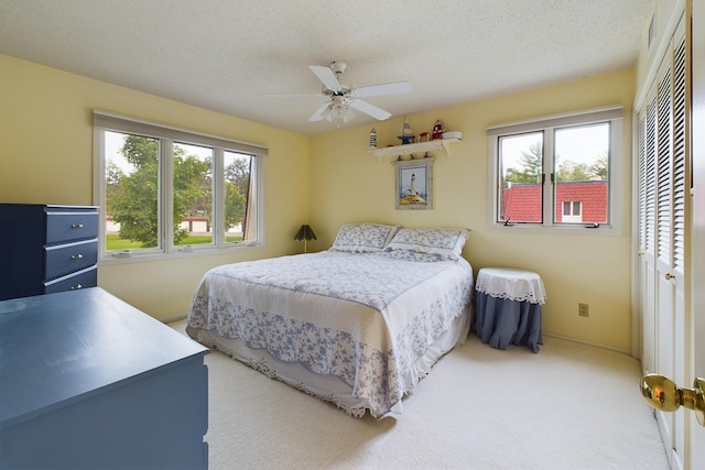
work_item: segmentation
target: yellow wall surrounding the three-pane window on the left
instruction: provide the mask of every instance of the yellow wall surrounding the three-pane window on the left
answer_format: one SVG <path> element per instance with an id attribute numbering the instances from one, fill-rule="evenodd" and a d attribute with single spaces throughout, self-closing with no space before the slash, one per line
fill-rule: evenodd
<path id="1" fill-rule="evenodd" d="M 301 250 L 293 236 L 308 214 L 308 138 L 4 55 L 0 55 L 0 203 L 94 204 L 94 108 L 269 147 L 263 248 L 99 265 L 98 285 L 156 318 L 170 319 L 186 314 L 207 269 Z"/>

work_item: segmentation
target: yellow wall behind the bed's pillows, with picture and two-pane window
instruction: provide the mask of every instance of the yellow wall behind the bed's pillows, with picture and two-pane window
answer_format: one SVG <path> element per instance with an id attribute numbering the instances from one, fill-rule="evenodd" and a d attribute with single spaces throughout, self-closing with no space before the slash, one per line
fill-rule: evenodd
<path id="1" fill-rule="evenodd" d="M 311 222 L 329 247 L 347 222 L 390 222 L 405 227 L 466 227 L 473 232 L 463 251 L 476 272 L 484 266 L 516 266 L 541 274 L 549 300 L 543 308 L 545 334 L 618 350 L 630 349 L 630 207 L 631 102 L 634 74 L 622 70 L 528 92 L 409 116 L 415 132 L 430 131 L 436 119 L 446 130 L 462 131 L 452 155 L 437 154 L 433 166 L 433 210 L 394 209 L 393 157 L 365 150 L 371 125 L 360 125 L 311 140 Z M 490 125 L 542 116 L 621 105 L 625 108 L 619 236 L 514 233 L 488 230 L 488 147 Z M 402 119 L 375 124 L 378 145 L 398 144 Z M 578 303 L 589 304 L 579 317 Z"/>

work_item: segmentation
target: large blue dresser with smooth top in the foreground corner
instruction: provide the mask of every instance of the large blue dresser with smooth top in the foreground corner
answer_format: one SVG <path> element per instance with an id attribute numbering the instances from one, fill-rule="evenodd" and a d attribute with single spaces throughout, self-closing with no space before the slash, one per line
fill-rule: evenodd
<path id="1" fill-rule="evenodd" d="M 0 468 L 206 469 L 208 352 L 100 287 L 0 302 Z"/>

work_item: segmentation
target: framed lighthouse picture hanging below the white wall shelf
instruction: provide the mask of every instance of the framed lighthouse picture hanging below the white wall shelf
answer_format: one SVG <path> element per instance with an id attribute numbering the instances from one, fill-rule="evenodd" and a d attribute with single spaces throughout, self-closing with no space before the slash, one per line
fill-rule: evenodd
<path id="1" fill-rule="evenodd" d="M 433 208 L 433 157 L 392 162 L 397 167 L 397 209 Z"/>

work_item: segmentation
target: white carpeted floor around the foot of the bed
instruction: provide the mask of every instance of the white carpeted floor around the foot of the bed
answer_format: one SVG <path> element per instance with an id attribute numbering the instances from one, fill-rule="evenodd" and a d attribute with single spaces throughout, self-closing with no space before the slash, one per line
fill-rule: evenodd
<path id="1" fill-rule="evenodd" d="M 184 321 L 171 324 L 183 332 Z M 468 341 L 403 402 L 354 418 L 220 352 L 209 371 L 212 470 L 669 468 L 638 361 L 557 338 L 541 352 Z"/>

